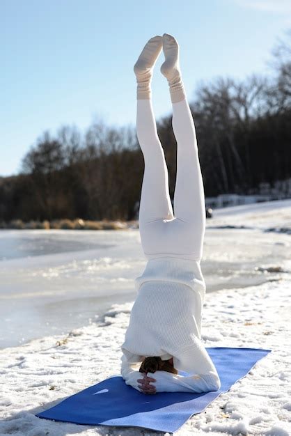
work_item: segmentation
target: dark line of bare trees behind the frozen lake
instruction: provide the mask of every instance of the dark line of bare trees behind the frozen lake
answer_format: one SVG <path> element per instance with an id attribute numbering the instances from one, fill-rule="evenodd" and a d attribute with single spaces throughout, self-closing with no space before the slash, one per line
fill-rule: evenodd
<path id="1" fill-rule="evenodd" d="M 205 196 L 249 194 L 291 177 L 291 29 L 273 51 L 272 77 L 218 77 L 196 88 L 194 116 Z M 157 120 L 173 198 L 172 116 Z M 135 127 L 95 121 L 86 132 L 44 132 L 17 176 L 0 178 L 0 221 L 135 219 L 143 178 Z"/>

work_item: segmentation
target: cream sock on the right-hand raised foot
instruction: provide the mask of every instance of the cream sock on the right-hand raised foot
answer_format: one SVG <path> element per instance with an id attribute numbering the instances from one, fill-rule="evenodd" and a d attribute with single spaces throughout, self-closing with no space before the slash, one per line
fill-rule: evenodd
<path id="1" fill-rule="evenodd" d="M 177 40 L 173 36 L 168 35 L 168 33 L 164 33 L 163 50 L 165 61 L 161 65 L 161 72 L 168 80 L 172 103 L 180 102 L 186 98 L 180 70 L 179 49 Z"/>

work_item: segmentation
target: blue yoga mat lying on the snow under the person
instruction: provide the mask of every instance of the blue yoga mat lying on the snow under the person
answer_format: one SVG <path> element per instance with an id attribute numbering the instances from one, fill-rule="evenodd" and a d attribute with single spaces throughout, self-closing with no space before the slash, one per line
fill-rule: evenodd
<path id="1" fill-rule="evenodd" d="M 155 395 L 147 395 L 125 384 L 123 377 L 118 375 L 65 398 L 36 416 L 77 424 L 134 426 L 173 433 L 190 416 L 202 412 L 222 392 L 228 391 L 270 351 L 255 348 L 207 348 L 221 379 L 219 391 L 203 394 L 157 392 Z M 182 371 L 179 374 L 187 375 Z"/>

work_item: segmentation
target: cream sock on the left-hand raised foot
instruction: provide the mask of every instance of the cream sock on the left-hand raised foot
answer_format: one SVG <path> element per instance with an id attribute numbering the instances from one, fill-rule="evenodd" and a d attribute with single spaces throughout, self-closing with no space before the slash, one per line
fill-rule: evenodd
<path id="1" fill-rule="evenodd" d="M 134 64 L 134 73 L 136 75 L 136 98 L 138 100 L 151 98 L 150 82 L 152 81 L 152 71 L 157 61 L 157 56 L 162 51 L 162 36 L 150 38 L 143 47 L 139 59 Z"/>

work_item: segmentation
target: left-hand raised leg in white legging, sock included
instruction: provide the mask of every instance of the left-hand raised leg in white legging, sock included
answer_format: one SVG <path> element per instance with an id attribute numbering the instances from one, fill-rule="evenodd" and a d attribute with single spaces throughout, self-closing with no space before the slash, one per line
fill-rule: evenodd
<path id="1" fill-rule="evenodd" d="M 162 37 L 150 38 L 134 65 L 137 81 L 136 135 L 143 153 L 145 169 L 139 205 L 139 231 L 145 253 L 161 250 L 163 219 L 173 219 L 173 208 L 168 192 L 168 169 L 164 150 L 157 134 L 152 110 L 150 81 Z"/>

